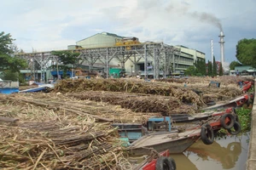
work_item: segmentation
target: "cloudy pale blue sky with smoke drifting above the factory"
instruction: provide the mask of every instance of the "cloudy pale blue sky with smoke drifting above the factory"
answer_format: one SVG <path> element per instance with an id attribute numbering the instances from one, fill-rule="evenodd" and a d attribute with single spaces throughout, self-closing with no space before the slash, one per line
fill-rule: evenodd
<path id="1" fill-rule="evenodd" d="M 67 49 L 107 31 L 140 42 L 197 49 L 220 60 L 236 59 L 236 44 L 256 38 L 255 0 L 1 0 L 0 31 L 26 53 Z"/>

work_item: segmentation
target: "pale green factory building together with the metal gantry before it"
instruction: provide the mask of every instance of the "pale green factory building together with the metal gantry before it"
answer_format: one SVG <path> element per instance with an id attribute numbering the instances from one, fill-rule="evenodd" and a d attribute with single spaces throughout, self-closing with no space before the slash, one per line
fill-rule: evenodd
<path id="1" fill-rule="evenodd" d="M 107 78 L 112 76 L 109 74 L 110 69 L 119 68 L 126 75 L 158 79 L 183 73 L 197 60 L 205 59 L 205 54 L 195 49 L 174 47 L 164 42 L 140 42 L 137 37 L 123 37 L 108 32 L 84 38 L 63 50 L 79 53 L 78 65 L 84 65 L 89 71 L 98 69 Z M 38 73 L 41 71 L 43 82 L 47 82 L 50 77 L 47 75 L 50 65 L 58 62 L 57 56 L 51 51 L 17 56 L 28 60 L 31 66 L 29 76 L 32 79 L 40 77 Z M 35 64 L 39 65 L 40 71 L 35 70 Z"/>

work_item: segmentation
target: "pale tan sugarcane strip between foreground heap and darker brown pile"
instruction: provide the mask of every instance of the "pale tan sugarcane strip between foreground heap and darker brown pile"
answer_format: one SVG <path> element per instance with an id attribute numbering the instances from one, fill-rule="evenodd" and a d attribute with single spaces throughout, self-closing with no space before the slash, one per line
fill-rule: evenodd
<path id="1" fill-rule="evenodd" d="M 17 111 L 20 112 L 21 118 L 26 119 L 26 110 L 20 109 L 22 105 L 40 106 L 47 112 L 65 111 L 66 115 L 90 116 L 99 122 L 143 122 L 150 116 L 161 116 L 155 112 L 135 112 L 130 109 L 123 109 L 120 105 L 110 105 L 104 102 L 95 102 L 91 100 L 80 100 L 71 98 L 64 94 L 15 94 L 7 96 L 4 99 L 17 104 Z M 15 107 L 12 106 L 12 110 Z M 16 112 L 17 112 L 16 111 Z M 38 116 L 41 113 L 36 114 Z M 58 113 L 59 114 L 59 113 Z M 61 112 L 62 114 L 62 112 Z M 33 116 L 33 120 L 36 118 Z"/>

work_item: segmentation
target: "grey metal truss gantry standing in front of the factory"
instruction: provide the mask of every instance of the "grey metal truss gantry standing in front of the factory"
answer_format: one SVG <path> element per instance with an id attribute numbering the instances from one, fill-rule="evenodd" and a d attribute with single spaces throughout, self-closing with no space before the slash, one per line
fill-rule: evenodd
<path id="1" fill-rule="evenodd" d="M 148 61 L 153 62 L 154 79 L 160 78 L 160 71 L 163 71 L 163 77 L 175 71 L 175 65 L 178 65 L 178 60 L 175 56 L 180 56 L 180 49 L 166 45 L 163 42 L 140 43 L 134 45 L 113 46 L 106 48 L 79 48 L 72 51 L 79 53 L 79 64 L 87 63 L 92 68 L 96 63 L 102 63 L 105 71 L 108 73 L 109 64 L 113 59 L 117 59 L 122 68 L 125 68 L 125 63 L 129 59 L 132 64 L 144 62 L 144 75 L 148 78 L 147 65 Z M 27 59 L 32 71 L 32 77 L 35 76 L 34 65 L 40 65 L 42 73 L 52 65 L 53 62 L 58 62 L 57 56 L 51 54 L 51 51 L 29 54 L 16 54 L 16 56 Z M 42 74 L 41 74 L 42 75 Z M 108 78 L 108 74 L 107 74 Z M 42 80 L 42 76 L 41 76 Z"/>

